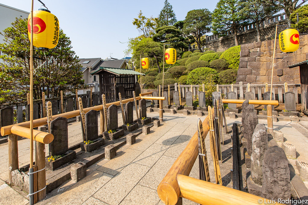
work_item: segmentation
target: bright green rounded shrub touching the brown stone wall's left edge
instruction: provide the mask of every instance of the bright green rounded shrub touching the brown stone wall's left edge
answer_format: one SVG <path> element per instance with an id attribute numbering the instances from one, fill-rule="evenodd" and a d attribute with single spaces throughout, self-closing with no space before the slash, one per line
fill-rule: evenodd
<path id="1" fill-rule="evenodd" d="M 225 59 L 231 69 L 238 69 L 240 63 L 241 46 L 233 46 L 225 50 L 219 58 Z"/>

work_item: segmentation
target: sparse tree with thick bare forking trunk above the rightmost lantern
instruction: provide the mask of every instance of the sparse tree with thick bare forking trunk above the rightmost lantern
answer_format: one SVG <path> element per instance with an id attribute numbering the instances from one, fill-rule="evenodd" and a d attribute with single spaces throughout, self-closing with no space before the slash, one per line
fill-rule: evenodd
<path id="1" fill-rule="evenodd" d="M 297 5 L 299 0 L 259 0 L 263 4 L 272 5 L 279 9 L 283 9 L 286 13 L 286 19 L 288 21 L 289 27 L 291 27 L 291 14 L 298 9 L 302 4 L 304 4 L 308 0 L 302 0 L 301 3 Z"/>

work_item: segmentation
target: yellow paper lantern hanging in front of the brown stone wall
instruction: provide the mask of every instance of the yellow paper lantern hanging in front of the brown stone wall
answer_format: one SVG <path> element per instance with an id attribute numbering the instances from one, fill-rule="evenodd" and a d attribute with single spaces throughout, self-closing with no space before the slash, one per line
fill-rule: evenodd
<path id="1" fill-rule="evenodd" d="M 279 46 L 282 52 L 294 52 L 299 47 L 299 34 L 296 29 L 286 29 L 279 34 Z"/>

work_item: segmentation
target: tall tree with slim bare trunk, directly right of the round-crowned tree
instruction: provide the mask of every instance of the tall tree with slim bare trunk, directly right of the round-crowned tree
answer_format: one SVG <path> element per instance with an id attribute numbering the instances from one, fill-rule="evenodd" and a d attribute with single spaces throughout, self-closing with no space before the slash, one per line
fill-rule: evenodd
<path id="1" fill-rule="evenodd" d="M 247 19 L 244 6 L 239 0 L 220 0 L 213 11 L 213 34 L 233 30 L 235 45 L 238 45 L 237 28 Z"/>

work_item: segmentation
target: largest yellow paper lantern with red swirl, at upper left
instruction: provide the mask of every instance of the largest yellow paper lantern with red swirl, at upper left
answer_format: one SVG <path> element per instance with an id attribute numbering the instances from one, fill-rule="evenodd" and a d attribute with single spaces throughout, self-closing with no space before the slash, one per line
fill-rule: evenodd
<path id="1" fill-rule="evenodd" d="M 31 14 L 28 16 L 28 37 L 31 41 Z M 33 11 L 33 45 L 39 50 L 55 48 L 59 41 L 59 20 L 47 9 Z"/>

